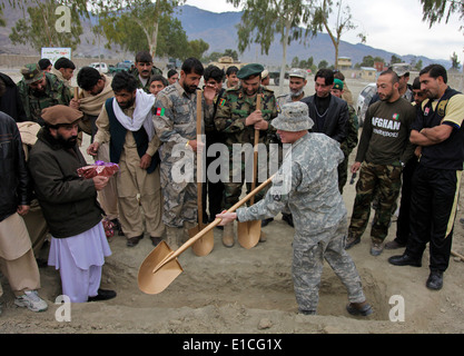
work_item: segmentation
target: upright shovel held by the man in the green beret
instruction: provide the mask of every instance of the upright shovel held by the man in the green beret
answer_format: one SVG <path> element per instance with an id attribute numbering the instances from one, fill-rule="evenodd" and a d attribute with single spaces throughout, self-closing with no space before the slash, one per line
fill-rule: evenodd
<path id="1" fill-rule="evenodd" d="M 256 95 L 256 110 L 261 109 L 261 97 Z M 255 129 L 255 148 L 253 152 L 253 181 L 251 190 L 256 187 L 256 180 L 258 176 L 258 144 L 259 144 L 259 130 Z M 255 204 L 255 196 L 251 197 L 250 206 Z M 238 244 L 246 249 L 254 248 L 259 243 L 261 236 L 261 220 L 245 221 L 237 224 Z"/>

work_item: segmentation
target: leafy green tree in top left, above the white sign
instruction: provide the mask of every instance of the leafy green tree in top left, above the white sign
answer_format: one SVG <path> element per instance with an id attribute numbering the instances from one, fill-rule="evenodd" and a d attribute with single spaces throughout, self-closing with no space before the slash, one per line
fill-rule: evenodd
<path id="1" fill-rule="evenodd" d="M 88 18 L 86 0 L 18 0 L 11 4 L 24 13 L 11 29 L 12 43 L 31 44 L 38 51 L 42 47 L 76 49 L 80 43 L 79 37 L 83 32 L 81 17 Z"/>

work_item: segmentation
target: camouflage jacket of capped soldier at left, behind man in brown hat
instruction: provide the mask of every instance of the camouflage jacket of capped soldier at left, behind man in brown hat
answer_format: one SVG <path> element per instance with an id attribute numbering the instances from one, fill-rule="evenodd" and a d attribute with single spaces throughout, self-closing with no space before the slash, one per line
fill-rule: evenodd
<path id="1" fill-rule="evenodd" d="M 21 79 L 18 82 L 19 95 L 24 106 L 28 121 L 38 122 L 43 126 L 41 118 L 42 109 L 56 105 L 69 106 L 73 93 L 56 76 L 46 73 L 47 87 L 43 93 L 33 93 L 29 86 Z"/>

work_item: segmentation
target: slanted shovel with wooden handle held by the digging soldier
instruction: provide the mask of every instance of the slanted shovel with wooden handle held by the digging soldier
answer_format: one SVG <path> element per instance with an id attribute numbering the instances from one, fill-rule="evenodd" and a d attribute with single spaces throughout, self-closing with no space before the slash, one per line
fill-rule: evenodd
<path id="1" fill-rule="evenodd" d="M 265 188 L 273 180 L 273 178 L 274 176 L 264 181 L 259 187 L 248 194 L 245 198 L 243 198 L 227 211 L 234 212 L 241 205 L 254 197 L 259 190 Z M 211 231 L 217 225 L 220 224 L 220 221 L 221 219 L 215 219 L 205 229 L 199 231 L 196 236 L 180 246 L 176 251 L 172 251 L 164 240 L 158 244 L 158 246 L 145 258 L 144 263 L 140 265 L 138 273 L 139 289 L 146 294 L 159 294 L 165 290 L 174 281 L 174 279 L 176 279 L 177 276 L 184 271 L 182 267 L 177 260 L 177 257 L 179 257 L 180 254 L 182 254 L 186 249 L 201 239 L 205 234 Z"/>

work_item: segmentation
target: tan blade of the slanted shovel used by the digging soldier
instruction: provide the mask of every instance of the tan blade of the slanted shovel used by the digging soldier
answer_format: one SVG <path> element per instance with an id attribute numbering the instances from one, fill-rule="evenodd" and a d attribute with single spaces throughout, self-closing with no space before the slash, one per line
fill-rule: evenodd
<path id="1" fill-rule="evenodd" d="M 140 265 L 138 274 L 139 289 L 146 294 L 158 294 L 165 290 L 182 271 L 177 258 L 161 264 L 172 250 L 161 241 Z"/>

